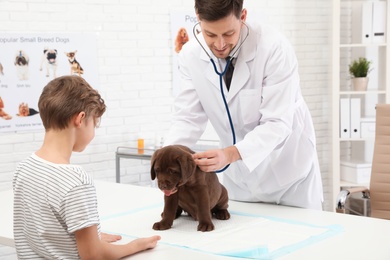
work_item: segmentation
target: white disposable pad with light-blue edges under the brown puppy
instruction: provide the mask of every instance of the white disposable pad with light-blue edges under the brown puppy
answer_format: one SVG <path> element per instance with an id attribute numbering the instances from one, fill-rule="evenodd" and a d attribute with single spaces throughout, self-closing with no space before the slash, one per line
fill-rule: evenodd
<path id="1" fill-rule="evenodd" d="M 341 232 L 339 226 L 312 226 L 240 212 L 230 212 L 229 220 L 213 219 L 211 232 L 197 231 L 198 222 L 187 215 L 175 219 L 169 230 L 153 230 L 162 209 L 160 205 L 109 216 L 102 219 L 102 229 L 127 237 L 158 234 L 159 243 L 252 259 L 274 259 Z"/>

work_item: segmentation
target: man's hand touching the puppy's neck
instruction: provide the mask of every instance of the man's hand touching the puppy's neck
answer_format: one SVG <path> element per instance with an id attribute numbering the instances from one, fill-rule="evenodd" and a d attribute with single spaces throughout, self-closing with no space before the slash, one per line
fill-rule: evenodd
<path id="1" fill-rule="evenodd" d="M 225 149 L 208 150 L 192 155 L 195 163 L 204 172 L 214 172 L 222 169 L 229 163 L 235 162 L 241 158 L 235 146 L 229 146 Z"/>

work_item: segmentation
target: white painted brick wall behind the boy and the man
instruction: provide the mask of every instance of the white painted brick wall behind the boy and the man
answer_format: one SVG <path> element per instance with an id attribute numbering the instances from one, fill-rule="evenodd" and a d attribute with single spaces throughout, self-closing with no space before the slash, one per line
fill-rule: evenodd
<path id="1" fill-rule="evenodd" d="M 167 4 L 168 3 L 168 4 Z M 117 146 L 146 146 L 170 125 L 172 112 L 170 12 L 193 10 L 191 0 L 0 0 L 0 32 L 90 32 L 97 35 L 100 92 L 108 110 L 90 146 L 72 162 L 96 179 L 115 180 Z M 313 116 L 325 188 L 329 193 L 328 0 L 246 0 L 249 13 L 281 30 L 300 65 L 302 92 Z M 1 48 L 1 46 L 0 46 Z M 0 190 L 11 188 L 17 163 L 38 149 L 43 131 L 0 134 Z M 148 162 L 123 163 L 123 181 L 144 172 Z M 333 202 L 326 201 L 331 210 Z"/>

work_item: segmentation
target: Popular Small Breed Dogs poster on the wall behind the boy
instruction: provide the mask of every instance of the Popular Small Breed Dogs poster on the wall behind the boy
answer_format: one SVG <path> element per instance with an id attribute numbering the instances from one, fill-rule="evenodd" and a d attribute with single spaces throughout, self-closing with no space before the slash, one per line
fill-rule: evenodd
<path id="1" fill-rule="evenodd" d="M 39 96 L 64 75 L 99 88 L 95 35 L 0 34 L 0 132 L 43 129 Z"/>

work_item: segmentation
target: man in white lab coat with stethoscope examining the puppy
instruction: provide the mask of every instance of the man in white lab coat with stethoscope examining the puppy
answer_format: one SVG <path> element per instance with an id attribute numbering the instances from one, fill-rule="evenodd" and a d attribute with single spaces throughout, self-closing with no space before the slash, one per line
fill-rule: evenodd
<path id="1" fill-rule="evenodd" d="M 322 210 L 314 127 L 292 46 L 270 27 L 246 24 L 243 0 L 195 0 L 195 11 L 199 42 L 191 39 L 179 54 L 181 90 L 164 145 L 192 147 L 210 120 L 223 149 L 193 158 L 204 171 L 231 164 L 223 176 L 230 199 Z M 232 54 L 227 88 L 210 57 L 221 72 Z"/>

